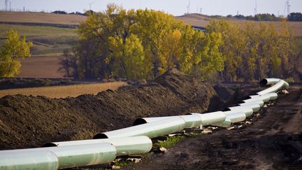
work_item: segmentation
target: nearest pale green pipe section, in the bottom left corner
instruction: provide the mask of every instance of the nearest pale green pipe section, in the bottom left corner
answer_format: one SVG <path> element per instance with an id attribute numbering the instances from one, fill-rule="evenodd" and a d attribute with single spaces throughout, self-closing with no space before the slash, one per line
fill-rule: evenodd
<path id="1" fill-rule="evenodd" d="M 19 152 L 0 151 L 0 169 L 50 169 L 59 168 L 57 155 L 48 150 Z"/>

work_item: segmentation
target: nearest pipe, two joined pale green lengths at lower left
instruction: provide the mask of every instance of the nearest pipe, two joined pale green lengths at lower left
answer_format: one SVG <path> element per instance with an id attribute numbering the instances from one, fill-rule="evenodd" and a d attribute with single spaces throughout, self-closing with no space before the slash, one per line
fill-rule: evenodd
<path id="1" fill-rule="evenodd" d="M 10 155 L 10 157 L 6 157 L 6 155 Z M 55 160 L 54 155 L 57 160 Z M 17 157 L 17 159 L 14 157 Z M 49 167 L 66 169 L 104 164 L 112 162 L 115 157 L 116 149 L 111 143 L 1 150 L 0 169 L 36 169 L 36 167 L 41 167 L 40 169 L 50 169 Z M 26 160 L 23 161 L 24 164 L 20 163 L 22 159 Z M 47 160 L 49 160 L 48 163 Z"/>

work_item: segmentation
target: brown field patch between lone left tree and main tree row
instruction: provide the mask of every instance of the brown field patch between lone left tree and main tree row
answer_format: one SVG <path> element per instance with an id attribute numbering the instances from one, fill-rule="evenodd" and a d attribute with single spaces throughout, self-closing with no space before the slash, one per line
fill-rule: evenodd
<path id="1" fill-rule="evenodd" d="M 20 74 L 16 78 L 64 78 L 64 73 L 58 71 L 62 56 L 29 57 L 20 59 Z"/>

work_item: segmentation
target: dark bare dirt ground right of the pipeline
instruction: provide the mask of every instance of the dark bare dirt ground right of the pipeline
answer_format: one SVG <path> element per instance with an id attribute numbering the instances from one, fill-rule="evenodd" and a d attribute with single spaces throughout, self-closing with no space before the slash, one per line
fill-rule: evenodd
<path id="1" fill-rule="evenodd" d="M 302 88 L 289 92 L 252 125 L 185 139 L 125 169 L 302 169 Z"/>

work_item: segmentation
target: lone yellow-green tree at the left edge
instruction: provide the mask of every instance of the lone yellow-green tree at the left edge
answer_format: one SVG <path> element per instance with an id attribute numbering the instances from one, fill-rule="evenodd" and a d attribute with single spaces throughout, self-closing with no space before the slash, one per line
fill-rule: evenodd
<path id="1" fill-rule="evenodd" d="M 15 60 L 17 57 L 30 57 L 31 42 L 27 42 L 25 36 L 20 38 L 17 31 L 10 30 L 0 51 L 0 76 L 13 77 L 20 73 L 21 63 Z"/>

